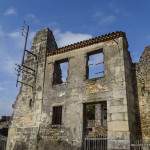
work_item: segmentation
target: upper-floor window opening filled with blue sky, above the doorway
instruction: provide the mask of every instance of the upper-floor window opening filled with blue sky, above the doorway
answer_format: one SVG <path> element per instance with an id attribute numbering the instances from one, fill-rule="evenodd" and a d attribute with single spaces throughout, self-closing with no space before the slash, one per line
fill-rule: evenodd
<path id="1" fill-rule="evenodd" d="M 102 50 L 87 55 L 87 79 L 104 76 L 104 56 Z"/>

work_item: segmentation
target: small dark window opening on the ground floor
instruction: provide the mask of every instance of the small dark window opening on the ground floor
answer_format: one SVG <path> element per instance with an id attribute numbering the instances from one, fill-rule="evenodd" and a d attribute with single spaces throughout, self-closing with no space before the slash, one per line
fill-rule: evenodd
<path id="1" fill-rule="evenodd" d="M 52 125 L 62 124 L 62 106 L 53 107 Z"/>

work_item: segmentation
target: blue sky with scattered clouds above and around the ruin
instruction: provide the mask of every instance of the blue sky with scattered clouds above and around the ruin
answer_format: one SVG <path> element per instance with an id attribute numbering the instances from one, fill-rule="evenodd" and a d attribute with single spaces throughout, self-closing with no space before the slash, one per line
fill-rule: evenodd
<path id="1" fill-rule="evenodd" d="M 150 44 L 150 0 L 0 0 L 0 116 L 10 114 L 18 89 L 14 64 L 21 61 L 20 28 L 54 31 L 59 46 L 104 33 L 127 33 L 129 50 L 137 61 Z"/>

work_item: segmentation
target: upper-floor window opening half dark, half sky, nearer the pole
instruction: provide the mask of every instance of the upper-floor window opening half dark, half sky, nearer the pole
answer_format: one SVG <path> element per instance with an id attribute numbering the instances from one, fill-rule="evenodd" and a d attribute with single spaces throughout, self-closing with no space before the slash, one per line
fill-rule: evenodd
<path id="1" fill-rule="evenodd" d="M 54 64 L 53 84 L 62 84 L 68 79 L 68 59 L 56 61 Z"/>

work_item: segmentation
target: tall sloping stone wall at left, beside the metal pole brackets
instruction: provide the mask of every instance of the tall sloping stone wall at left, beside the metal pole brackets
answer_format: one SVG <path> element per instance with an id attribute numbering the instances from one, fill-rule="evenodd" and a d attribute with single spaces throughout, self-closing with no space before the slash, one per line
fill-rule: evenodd
<path id="1" fill-rule="evenodd" d="M 27 73 L 22 75 L 22 82 L 33 86 L 33 88 L 24 84 L 20 87 L 14 104 L 14 114 L 12 125 L 9 129 L 7 150 L 17 150 L 20 147 L 22 149 L 34 150 L 37 147 L 37 135 L 41 122 L 43 102 L 46 55 L 47 51 L 56 48 L 57 45 L 49 29 L 37 32 L 31 48 L 31 52 L 37 55 L 37 59 L 28 54 L 24 62 L 25 66 L 35 70 L 36 78 Z M 30 71 L 30 73 L 33 72 Z"/>

